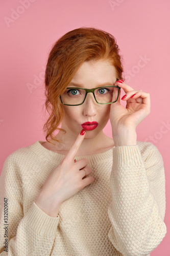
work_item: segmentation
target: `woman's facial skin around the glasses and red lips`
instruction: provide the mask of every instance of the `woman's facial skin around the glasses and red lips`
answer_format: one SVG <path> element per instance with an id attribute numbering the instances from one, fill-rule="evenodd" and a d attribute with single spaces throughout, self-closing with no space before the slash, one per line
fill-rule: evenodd
<path id="1" fill-rule="evenodd" d="M 116 81 L 116 71 L 107 60 L 85 61 L 78 70 L 68 87 L 92 89 L 95 87 L 112 86 Z M 92 131 L 86 131 L 85 139 L 94 138 L 105 127 L 109 120 L 111 104 L 98 104 L 92 93 L 88 93 L 83 104 L 78 106 L 63 105 L 64 118 L 62 128 L 70 135 L 77 136 L 83 129 L 84 122 L 98 122 L 98 126 Z"/>

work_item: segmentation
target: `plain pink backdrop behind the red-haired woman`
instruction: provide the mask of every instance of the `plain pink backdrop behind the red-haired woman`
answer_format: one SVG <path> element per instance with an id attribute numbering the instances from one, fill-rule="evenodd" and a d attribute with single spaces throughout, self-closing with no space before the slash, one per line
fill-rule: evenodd
<path id="1" fill-rule="evenodd" d="M 164 160 L 167 234 L 151 255 L 169 256 L 170 2 L 10 0 L 1 1 L 0 7 L 0 170 L 9 154 L 45 140 L 43 77 L 54 42 L 83 26 L 111 33 L 124 56 L 125 81 L 151 95 L 151 114 L 137 127 L 137 140 L 155 144 Z M 104 132 L 112 136 L 110 122 Z"/>

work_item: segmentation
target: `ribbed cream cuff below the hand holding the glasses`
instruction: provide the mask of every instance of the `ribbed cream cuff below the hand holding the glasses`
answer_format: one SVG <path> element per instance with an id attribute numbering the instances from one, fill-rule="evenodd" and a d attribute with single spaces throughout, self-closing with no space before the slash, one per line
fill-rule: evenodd
<path id="1" fill-rule="evenodd" d="M 138 145 L 114 147 L 113 161 L 121 166 L 144 164 Z"/>

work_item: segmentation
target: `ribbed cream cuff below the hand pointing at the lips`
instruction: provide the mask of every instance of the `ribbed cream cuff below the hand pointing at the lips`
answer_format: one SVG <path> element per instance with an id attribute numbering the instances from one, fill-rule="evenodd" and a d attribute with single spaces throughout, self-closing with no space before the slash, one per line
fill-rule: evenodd
<path id="1" fill-rule="evenodd" d="M 45 214 L 45 212 L 33 202 L 26 216 L 29 225 L 37 233 L 45 236 L 55 236 L 60 219 L 59 215 L 57 217 L 51 217 Z M 26 216 L 23 218 L 26 218 Z"/>

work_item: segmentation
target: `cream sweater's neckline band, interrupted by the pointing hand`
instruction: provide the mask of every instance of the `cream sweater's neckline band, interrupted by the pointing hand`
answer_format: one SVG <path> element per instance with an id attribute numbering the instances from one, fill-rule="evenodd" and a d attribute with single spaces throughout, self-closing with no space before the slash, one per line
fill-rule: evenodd
<path id="1" fill-rule="evenodd" d="M 47 150 L 47 148 L 45 148 L 44 146 L 42 146 L 42 143 L 44 143 L 45 141 L 42 140 L 37 140 L 35 143 L 31 144 L 29 147 L 31 148 L 32 151 L 34 151 L 34 153 L 38 156 L 40 156 L 41 158 L 47 160 L 47 161 L 52 161 L 52 162 L 61 162 L 63 160 L 63 158 L 65 157 L 65 155 L 63 154 L 59 154 L 57 152 L 51 151 L 51 150 Z M 112 157 L 112 151 L 113 148 L 115 146 L 113 146 L 112 148 L 110 148 L 110 150 L 107 150 L 105 152 L 102 153 L 97 153 L 97 154 L 92 154 L 92 155 L 85 155 L 85 156 L 76 156 L 75 159 L 77 161 L 81 160 L 82 158 L 86 158 L 89 160 L 89 163 L 96 163 L 99 161 L 103 161 L 106 160 L 110 157 Z"/>

